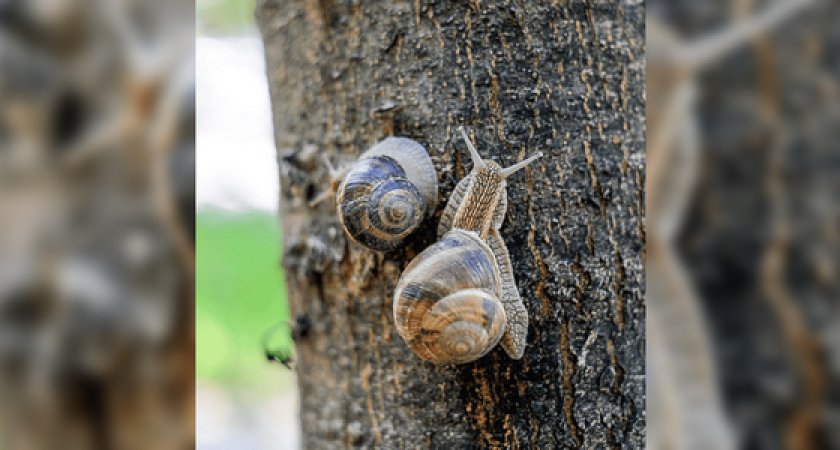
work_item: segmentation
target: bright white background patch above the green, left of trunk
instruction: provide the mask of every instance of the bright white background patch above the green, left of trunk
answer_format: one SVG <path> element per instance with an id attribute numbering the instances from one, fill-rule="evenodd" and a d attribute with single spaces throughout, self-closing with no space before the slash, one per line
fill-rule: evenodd
<path id="1" fill-rule="evenodd" d="M 279 172 L 258 38 L 196 39 L 196 209 L 277 211 Z"/>

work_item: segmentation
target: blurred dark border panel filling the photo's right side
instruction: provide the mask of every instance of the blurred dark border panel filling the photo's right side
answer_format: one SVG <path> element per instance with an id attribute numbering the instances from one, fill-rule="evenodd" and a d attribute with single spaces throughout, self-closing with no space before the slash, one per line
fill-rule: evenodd
<path id="1" fill-rule="evenodd" d="M 840 2 L 647 10 L 648 443 L 840 448 Z"/>

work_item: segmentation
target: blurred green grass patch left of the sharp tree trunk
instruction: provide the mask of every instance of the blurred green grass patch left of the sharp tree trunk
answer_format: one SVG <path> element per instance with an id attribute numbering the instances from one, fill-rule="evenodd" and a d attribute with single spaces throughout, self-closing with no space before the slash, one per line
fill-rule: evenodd
<path id="1" fill-rule="evenodd" d="M 205 208 L 196 217 L 196 378 L 270 393 L 287 388 L 261 337 L 289 320 L 278 219 L 267 212 Z M 288 329 L 272 347 L 291 345 Z"/>

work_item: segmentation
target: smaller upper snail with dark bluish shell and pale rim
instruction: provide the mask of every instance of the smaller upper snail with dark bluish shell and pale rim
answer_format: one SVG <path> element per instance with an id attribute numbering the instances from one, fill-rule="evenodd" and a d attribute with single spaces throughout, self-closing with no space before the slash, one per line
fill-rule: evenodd
<path id="1" fill-rule="evenodd" d="M 324 156 L 330 189 L 310 206 L 335 194 L 347 235 L 372 250 L 400 247 L 437 206 L 437 172 L 426 149 L 408 138 L 389 137 L 352 167 L 336 170 Z"/>

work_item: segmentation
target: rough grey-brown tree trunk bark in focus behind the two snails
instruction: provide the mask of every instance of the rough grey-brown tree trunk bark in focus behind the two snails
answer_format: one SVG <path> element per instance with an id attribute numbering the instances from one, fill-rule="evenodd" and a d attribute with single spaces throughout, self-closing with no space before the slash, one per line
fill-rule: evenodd
<path id="1" fill-rule="evenodd" d="M 305 448 L 643 448 L 643 2 L 262 0 Z M 396 334 L 401 270 L 472 168 L 508 166 L 501 234 L 530 316 L 499 348 L 435 366 Z M 437 216 L 402 250 L 347 241 L 319 154 L 424 144 Z M 307 326 L 308 325 L 308 326 Z"/>

